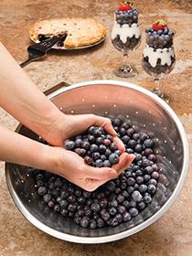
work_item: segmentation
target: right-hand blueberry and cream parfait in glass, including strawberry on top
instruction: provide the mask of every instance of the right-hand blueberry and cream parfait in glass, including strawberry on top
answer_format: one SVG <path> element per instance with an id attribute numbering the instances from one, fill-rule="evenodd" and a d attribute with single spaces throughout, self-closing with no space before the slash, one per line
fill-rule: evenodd
<path id="1" fill-rule="evenodd" d="M 173 45 L 175 31 L 168 28 L 164 20 L 158 19 L 152 27 L 147 27 L 145 32 L 146 45 L 142 65 L 147 74 L 155 80 L 160 80 L 174 69 L 176 63 Z M 159 89 L 154 91 L 156 94 L 162 94 Z"/>

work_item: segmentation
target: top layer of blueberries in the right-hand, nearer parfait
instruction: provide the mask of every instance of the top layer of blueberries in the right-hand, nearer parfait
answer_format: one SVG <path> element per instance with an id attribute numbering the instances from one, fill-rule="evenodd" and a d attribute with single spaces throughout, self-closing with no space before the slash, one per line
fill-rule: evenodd
<path id="1" fill-rule="evenodd" d="M 174 31 L 165 27 L 155 31 L 152 27 L 145 30 L 147 37 L 146 43 L 152 48 L 170 48 L 173 45 Z"/>

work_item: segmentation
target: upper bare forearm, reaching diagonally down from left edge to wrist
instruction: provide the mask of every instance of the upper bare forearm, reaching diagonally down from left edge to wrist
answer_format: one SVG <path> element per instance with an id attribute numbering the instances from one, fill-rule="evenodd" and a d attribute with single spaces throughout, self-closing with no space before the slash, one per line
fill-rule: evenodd
<path id="1" fill-rule="evenodd" d="M 39 135 L 49 131 L 59 116 L 58 108 L 0 43 L 0 106 Z"/>

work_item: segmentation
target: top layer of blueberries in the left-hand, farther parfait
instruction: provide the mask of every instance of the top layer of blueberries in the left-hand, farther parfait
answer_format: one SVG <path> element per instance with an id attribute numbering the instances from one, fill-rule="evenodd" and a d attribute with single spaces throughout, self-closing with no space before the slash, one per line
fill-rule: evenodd
<path id="1" fill-rule="evenodd" d="M 138 11 L 135 8 L 132 8 L 128 11 L 115 11 L 116 21 L 118 24 L 128 24 L 132 26 L 133 23 L 138 22 Z"/>

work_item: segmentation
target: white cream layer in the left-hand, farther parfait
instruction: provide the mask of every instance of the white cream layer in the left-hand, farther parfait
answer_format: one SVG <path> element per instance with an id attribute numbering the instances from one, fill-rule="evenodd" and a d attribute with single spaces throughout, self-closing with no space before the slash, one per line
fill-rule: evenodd
<path id="1" fill-rule="evenodd" d="M 139 38 L 141 35 L 140 29 L 139 29 L 139 25 L 138 23 L 133 23 L 131 27 L 129 27 L 128 24 L 123 24 L 120 25 L 116 22 L 116 20 L 114 21 L 114 25 L 112 27 L 112 40 L 119 36 L 120 39 L 123 41 L 123 44 L 126 43 L 127 41 L 127 37 L 135 37 L 135 38 Z"/>

